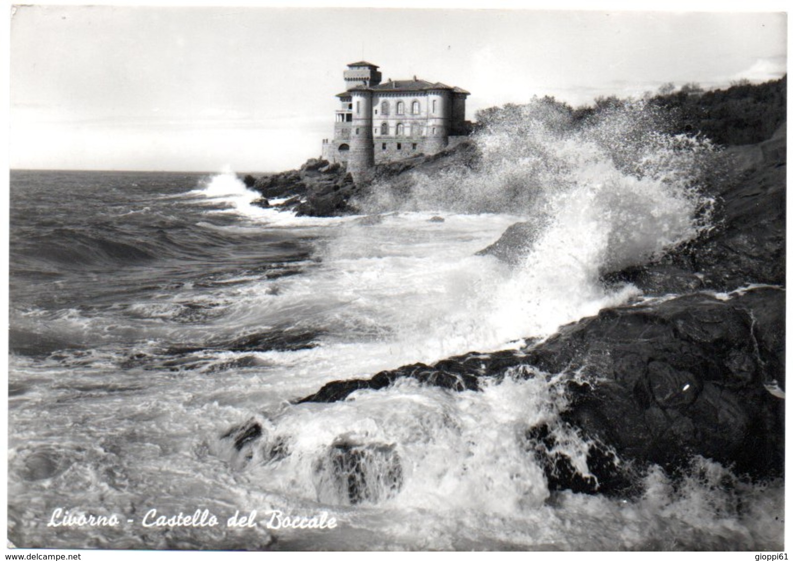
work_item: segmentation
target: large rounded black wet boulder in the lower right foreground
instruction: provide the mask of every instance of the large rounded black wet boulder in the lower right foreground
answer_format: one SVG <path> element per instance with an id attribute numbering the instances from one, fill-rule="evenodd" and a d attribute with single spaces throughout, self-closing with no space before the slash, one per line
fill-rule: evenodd
<path id="1" fill-rule="evenodd" d="M 783 370 L 763 357 L 779 357 L 783 342 L 758 337 L 753 322 L 754 310 L 782 321 L 784 307 L 772 304 L 780 293 L 603 310 L 539 345 L 527 362 L 588 378 L 570 382 L 563 418 L 623 458 L 674 468 L 701 454 L 743 472 L 780 473 L 783 402 L 764 383 L 783 380 Z"/>

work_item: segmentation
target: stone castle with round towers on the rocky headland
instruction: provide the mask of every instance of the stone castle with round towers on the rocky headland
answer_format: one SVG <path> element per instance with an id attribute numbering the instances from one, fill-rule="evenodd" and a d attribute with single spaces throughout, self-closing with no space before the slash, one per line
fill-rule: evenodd
<path id="1" fill-rule="evenodd" d="M 465 138 L 469 92 L 416 76 L 381 83 L 377 68 L 366 61 L 347 65 L 333 139 L 322 141 L 324 159 L 345 163 L 355 177 L 376 162 L 435 154 Z"/>

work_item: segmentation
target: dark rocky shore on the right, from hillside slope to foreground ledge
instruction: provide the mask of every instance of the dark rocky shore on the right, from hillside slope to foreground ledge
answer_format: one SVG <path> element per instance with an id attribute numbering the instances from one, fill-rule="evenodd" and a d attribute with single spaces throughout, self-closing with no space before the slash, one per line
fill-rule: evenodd
<path id="1" fill-rule="evenodd" d="M 331 382 L 298 403 L 347 399 L 404 377 L 476 391 L 485 378 L 557 376 L 568 397 L 559 422 L 588 438 L 589 474 L 554 445 L 554 427 L 534 427 L 527 442 L 551 489 L 623 494 L 642 466 L 674 474 L 695 456 L 754 477 L 781 475 L 785 144 L 783 125 L 763 143 L 730 148 L 738 173 L 712 193 L 716 226 L 657 261 L 603 276 L 679 296 L 603 309 L 517 351 Z M 534 230 L 517 223 L 480 253 L 510 261 Z"/>

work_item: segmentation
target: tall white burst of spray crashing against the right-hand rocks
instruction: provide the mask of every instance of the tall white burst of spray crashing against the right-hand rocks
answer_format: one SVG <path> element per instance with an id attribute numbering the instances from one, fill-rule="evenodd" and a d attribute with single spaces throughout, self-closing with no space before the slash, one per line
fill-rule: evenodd
<path id="1" fill-rule="evenodd" d="M 504 113 L 475 135 L 473 166 L 384 181 L 361 201 L 373 212 L 507 212 L 528 223 L 531 240 L 513 241 L 513 270 L 491 265 L 487 279 L 481 263 L 461 271 L 484 285 L 462 313 L 491 343 L 550 334 L 625 301 L 637 292 L 607 292 L 603 273 L 660 256 L 707 227 L 712 201 L 701 187 L 719 152 L 707 139 L 657 132 L 657 110 L 630 105 L 578 124 L 545 100 Z M 465 322 L 457 311 L 447 321 Z"/>

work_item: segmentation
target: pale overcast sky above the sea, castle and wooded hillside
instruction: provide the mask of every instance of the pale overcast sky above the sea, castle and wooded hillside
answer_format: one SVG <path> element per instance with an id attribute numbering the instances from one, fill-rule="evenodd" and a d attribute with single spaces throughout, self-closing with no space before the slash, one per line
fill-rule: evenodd
<path id="1" fill-rule="evenodd" d="M 787 69 L 780 13 L 19 6 L 12 168 L 275 171 L 320 154 L 342 72 L 572 105 Z"/>

